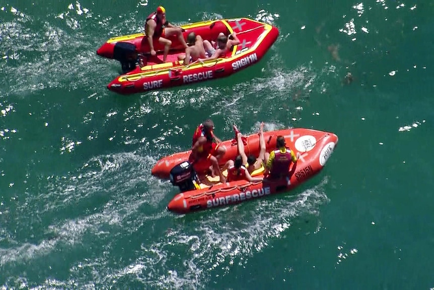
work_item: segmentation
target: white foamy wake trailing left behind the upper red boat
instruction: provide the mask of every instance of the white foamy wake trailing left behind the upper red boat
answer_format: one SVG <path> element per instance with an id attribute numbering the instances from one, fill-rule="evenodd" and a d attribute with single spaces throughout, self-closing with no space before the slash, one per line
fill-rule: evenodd
<path id="1" fill-rule="evenodd" d="M 10 35 L 2 41 L 0 48 L 7 45 L 9 49 L 15 49 L 15 51 L 10 50 L 8 54 L 16 55 L 10 58 L 18 61 L 14 63 L 17 68 L 6 75 L 5 81 L 10 84 L 10 90 L 6 94 L 26 94 L 26 92 L 31 93 L 47 87 L 75 88 L 78 85 L 86 86 L 91 82 L 86 77 L 89 74 L 89 66 L 83 62 L 77 65 L 77 59 L 85 57 L 89 61 L 95 59 L 95 53 L 89 50 L 84 52 L 86 55 L 80 53 L 83 46 L 89 46 L 89 40 L 85 40 L 80 34 L 66 34 L 60 28 L 48 23 L 44 23 L 42 33 L 33 33 L 22 23 L 14 22 L 0 24 L 0 29 L 8 29 Z M 30 39 L 32 39 L 31 42 L 29 42 Z M 12 43 L 17 44 L 12 45 Z M 66 47 L 67 50 L 75 51 L 74 57 L 64 56 L 61 50 Z M 33 54 L 37 52 L 34 56 L 37 61 L 29 59 L 27 55 L 30 52 Z M 26 78 L 23 78 L 23 75 Z M 69 82 L 67 82 L 68 78 Z"/>

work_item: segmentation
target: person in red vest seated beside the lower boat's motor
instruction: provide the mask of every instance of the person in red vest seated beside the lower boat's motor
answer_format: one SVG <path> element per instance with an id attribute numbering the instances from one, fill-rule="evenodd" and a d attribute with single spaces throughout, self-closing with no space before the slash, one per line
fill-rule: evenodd
<path id="1" fill-rule="evenodd" d="M 213 133 L 214 123 L 211 120 L 206 120 L 200 124 L 193 135 L 193 142 L 189 162 L 210 162 L 211 163 L 211 176 L 215 173 L 219 175 L 220 182 L 225 183 L 226 178 L 222 174 L 219 167 L 219 159 L 226 153 L 225 147 L 220 147 L 218 143 L 222 141 Z"/>

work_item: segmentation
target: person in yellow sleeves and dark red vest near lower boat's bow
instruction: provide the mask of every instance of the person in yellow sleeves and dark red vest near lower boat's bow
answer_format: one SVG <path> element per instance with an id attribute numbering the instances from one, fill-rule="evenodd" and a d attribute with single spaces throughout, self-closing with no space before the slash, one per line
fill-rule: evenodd
<path id="1" fill-rule="evenodd" d="M 285 138 L 283 136 L 277 136 L 276 147 L 277 150 L 273 150 L 270 152 L 269 156 L 265 156 L 265 158 L 268 157 L 268 161 L 265 166 L 264 176 L 266 179 L 291 179 L 291 176 L 296 170 L 300 153 L 297 153 L 296 156 L 293 150 L 286 148 Z M 291 171 L 288 172 L 292 162 L 294 165 Z"/>

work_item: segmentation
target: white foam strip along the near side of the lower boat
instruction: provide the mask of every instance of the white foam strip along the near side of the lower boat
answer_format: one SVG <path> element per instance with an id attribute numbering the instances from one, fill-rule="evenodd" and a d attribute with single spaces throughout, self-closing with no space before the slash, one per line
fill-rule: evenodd
<path id="1" fill-rule="evenodd" d="M 287 194 L 256 200 L 255 208 L 246 212 L 238 205 L 189 219 L 188 227 L 180 223 L 162 240 L 143 243 L 139 258 L 110 273 L 101 283 L 132 276 L 144 287 L 200 288 L 209 281 L 210 271 L 223 268 L 226 275 L 232 265 L 245 265 L 255 253 L 279 239 L 298 216 L 317 215 L 319 205 L 327 201 L 322 192 L 326 183 L 324 179 L 296 197 Z M 189 258 L 179 257 L 185 255 Z"/>

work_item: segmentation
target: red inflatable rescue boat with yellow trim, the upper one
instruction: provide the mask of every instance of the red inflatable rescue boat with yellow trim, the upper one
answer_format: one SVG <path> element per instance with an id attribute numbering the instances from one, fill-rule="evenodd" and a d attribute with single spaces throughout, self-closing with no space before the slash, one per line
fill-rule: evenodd
<path id="1" fill-rule="evenodd" d="M 183 61 L 178 61 L 178 55 L 185 50 L 175 35 L 167 37 L 172 46 L 166 63 L 162 62 L 164 46 L 155 43 L 157 55 L 151 56 L 143 33 L 110 38 L 97 54 L 118 60 L 125 73 L 107 88 L 120 94 L 133 94 L 227 77 L 257 63 L 279 34 L 276 27 L 248 18 L 203 21 L 181 28 L 184 39 L 190 32 L 208 41 L 215 41 L 221 32 L 228 37 L 236 32 L 241 43 L 234 45 L 225 57 L 184 66 Z M 137 65 L 138 62 L 141 64 Z"/>

